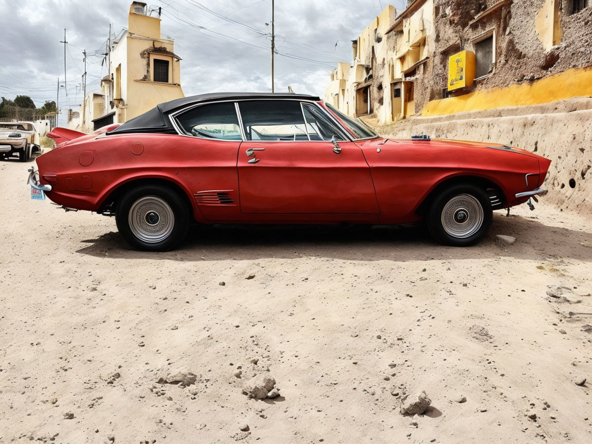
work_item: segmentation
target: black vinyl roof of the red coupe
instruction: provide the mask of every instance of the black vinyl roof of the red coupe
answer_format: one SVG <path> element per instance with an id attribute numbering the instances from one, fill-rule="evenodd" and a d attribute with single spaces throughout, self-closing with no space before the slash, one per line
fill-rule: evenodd
<path id="1" fill-rule="evenodd" d="M 107 134 L 126 134 L 126 133 L 165 133 L 177 134 L 175 128 L 166 118 L 173 111 L 200 103 L 215 102 L 220 100 L 249 100 L 249 99 L 292 99 L 292 100 L 312 100 L 320 101 L 318 96 L 307 94 L 292 93 L 272 93 L 272 92 L 213 92 L 210 94 L 200 94 L 180 99 L 171 100 L 157 105 L 152 110 L 128 120 L 126 123 L 118 126 Z"/>

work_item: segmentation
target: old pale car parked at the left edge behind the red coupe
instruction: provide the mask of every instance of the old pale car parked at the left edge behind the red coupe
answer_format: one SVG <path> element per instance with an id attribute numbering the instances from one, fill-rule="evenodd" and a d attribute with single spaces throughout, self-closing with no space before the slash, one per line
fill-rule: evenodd
<path id="1" fill-rule="evenodd" d="M 21 162 L 28 162 L 40 150 L 39 134 L 32 122 L 0 122 L 1 157 L 17 155 Z"/>

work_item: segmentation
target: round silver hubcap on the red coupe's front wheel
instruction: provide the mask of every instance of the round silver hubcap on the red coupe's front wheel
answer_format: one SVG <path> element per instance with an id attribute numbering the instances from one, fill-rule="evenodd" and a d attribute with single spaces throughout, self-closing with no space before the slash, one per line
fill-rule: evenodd
<path id="1" fill-rule="evenodd" d="M 453 197 L 442 208 L 442 227 L 447 234 L 466 239 L 477 233 L 483 224 L 483 207 L 470 194 Z"/>

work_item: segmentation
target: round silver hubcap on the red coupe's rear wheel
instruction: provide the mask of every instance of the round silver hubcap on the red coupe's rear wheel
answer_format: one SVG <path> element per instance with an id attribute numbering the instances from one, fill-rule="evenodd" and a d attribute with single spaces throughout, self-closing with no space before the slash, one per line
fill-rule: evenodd
<path id="1" fill-rule="evenodd" d="M 146 196 L 131 205 L 128 215 L 131 232 L 143 242 L 162 242 L 173 231 L 175 215 L 169 204 L 156 196 Z"/>

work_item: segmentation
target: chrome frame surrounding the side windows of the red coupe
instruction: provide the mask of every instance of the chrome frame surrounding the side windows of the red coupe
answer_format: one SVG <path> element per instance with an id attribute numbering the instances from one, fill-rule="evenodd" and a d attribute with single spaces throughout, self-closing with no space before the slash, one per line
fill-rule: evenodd
<path id="1" fill-rule="evenodd" d="M 294 143 L 294 142 L 300 142 L 302 143 L 303 141 L 308 141 L 311 143 L 331 143 L 330 140 L 310 140 L 310 135 L 307 133 L 307 137 L 309 140 L 247 140 L 246 134 L 244 133 L 244 126 L 243 126 L 243 118 L 240 115 L 240 107 L 239 104 L 240 102 L 255 102 L 255 101 L 276 101 L 276 100 L 281 100 L 281 101 L 295 101 L 295 102 L 299 102 L 300 103 L 300 109 L 303 111 L 303 118 L 304 118 L 304 123 L 306 123 L 306 118 L 304 115 L 304 110 L 302 107 L 303 103 L 307 103 L 307 104 L 311 104 L 314 107 L 317 107 L 319 110 L 321 110 L 321 112 L 326 115 L 329 120 L 332 120 L 334 124 L 336 124 L 336 126 L 338 128 L 340 128 L 340 130 L 342 130 L 343 134 L 342 136 L 345 136 L 345 139 L 343 139 L 344 142 L 346 141 L 354 141 L 355 138 L 352 136 L 352 134 L 350 133 L 350 131 L 348 130 L 347 127 L 343 126 L 343 123 L 339 120 L 337 120 L 337 118 L 332 114 L 332 112 L 330 112 L 329 110 L 327 110 L 327 108 L 323 107 L 320 105 L 320 102 L 315 101 L 315 100 L 303 100 L 303 99 L 291 99 L 291 98 L 281 98 L 281 99 L 274 99 L 274 98 L 244 98 L 244 99 L 229 99 L 229 100 L 215 100 L 215 101 L 211 101 L 211 102 L 204 102 L 204 103 L 198 103 L 198 104 L 192 104 L 189 105 L 185 108 L 181 108 L 181 110 L 177 110 L 174 112 L 171 112 L 169 114 L 169 120 L 173 126 L 173 128 L 175 128 L 175 131 L 179 134 L 179 136 L 184 136 L 184 137 L 191 137 L 192 139 L 201 139 L 201 140 L 217 140 L 217 141 L 222 141 L 222 142 L 250 142 L 250 143 L 269 143 L 269 142 L 282 142 L 282 143 Z M 182 114 L 186 111 L 192 110 L 193 108 L 197 108 L 197 107 L 202 107 L 204 105 L 210 105 L 210 104 L 217 104 L 217 103 L 223 103 L 223 102 L 233 102 L 234 103 L 234 109 L 236 110 L 236 114 L 237 114 L 237 118 L 239 119 L 239 127 L 240 127 L 240 135 L 242 137 L 242 140 L 227 140 L 227 139 L 210 139 L 208 137 L 199 137 L 199 136 L 194 136 L 192 134 L 188 134 L 186 133 L 181 125 L 178 123 L 178 121 L 176 120 L 176 117 L 179 114 Z"/>

